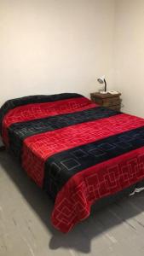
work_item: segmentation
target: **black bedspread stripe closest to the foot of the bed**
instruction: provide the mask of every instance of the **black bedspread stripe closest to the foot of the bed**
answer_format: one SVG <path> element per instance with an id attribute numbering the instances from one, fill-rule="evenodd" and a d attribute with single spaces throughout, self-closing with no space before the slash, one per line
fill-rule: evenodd
<path id="1" fill-rule="evenodd" d="M 144 126 L 54 154 L 45 162 L 43 188 L 55 200 L 76 173 L 143 146 Z"/>

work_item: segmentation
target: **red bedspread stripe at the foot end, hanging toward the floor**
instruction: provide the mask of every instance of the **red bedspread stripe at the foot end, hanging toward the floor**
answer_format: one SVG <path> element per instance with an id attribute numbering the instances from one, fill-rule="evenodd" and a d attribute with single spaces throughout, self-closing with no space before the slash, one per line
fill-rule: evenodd
<path id="1" fill-rule="evenodd" d="M 55 228 L 68 232 L 90 213 L 96 200 L 144 178 L 144 148 L 107 160 L 74 175 L 60 190 L 52 213 Z"/>

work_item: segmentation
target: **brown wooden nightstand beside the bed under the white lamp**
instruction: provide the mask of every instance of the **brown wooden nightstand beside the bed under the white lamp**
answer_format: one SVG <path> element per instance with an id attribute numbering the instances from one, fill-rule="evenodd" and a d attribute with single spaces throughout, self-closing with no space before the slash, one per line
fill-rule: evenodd
<path id="1" fill-rule="evenodd" d="M 90 99 L 92 102 L 95 102 L 102 107 L 111 108 L 113 110 L 120 111 L 121 102 L 120 99 L 121 93 L 118 94 L 101 94 L 100 92 L 90 93 Z"/>

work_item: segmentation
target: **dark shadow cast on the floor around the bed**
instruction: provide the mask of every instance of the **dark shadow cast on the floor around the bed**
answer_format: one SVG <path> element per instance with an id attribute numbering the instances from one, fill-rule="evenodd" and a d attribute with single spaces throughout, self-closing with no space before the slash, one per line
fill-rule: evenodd
<path id="1" fill-rule="evenodd" d="M 93 207 L 91 215 L 84 222 L 78 224 L 68 234 L 62 234 L 53 228 L 50 223 L 50 215 L 53 209 L 53 202 L 43 190 L 39 189 L 32 180 L 26 177 L 20 166 L 9 157 L 6 152 L 0 153 L 0 162 L 5 172 L 14 181 L 20 189 L 20 193 L 26 198 L 26 201 L 32 206 L 37 215 L 51 232 L 49 247 L 52 250 L 59 247 L 73 248 L 82 253 L 89 253 L 91 241 L 96 236 L 101 236 L 103 232 L 111 230 L 113 226 L 122 224 L 129 225 L 129 229 L 135 229 L 129 224 L 128 219 L 144 211 L 144 193 L 134 197 L 125 197 L 123 200 L 97 212 Z"/>

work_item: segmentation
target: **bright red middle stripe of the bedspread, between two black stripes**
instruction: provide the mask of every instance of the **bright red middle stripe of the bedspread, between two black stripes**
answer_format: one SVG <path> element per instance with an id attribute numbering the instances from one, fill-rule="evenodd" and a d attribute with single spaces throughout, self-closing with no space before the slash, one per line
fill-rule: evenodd
<path id="1" fill-rule="evenodd" d="M 143 125 L 144 119 L 123 113 L 27 137 L 23 145 L 23 168 L 37 185 L 42 187 L 44 162 L 49 156 Z"/>

